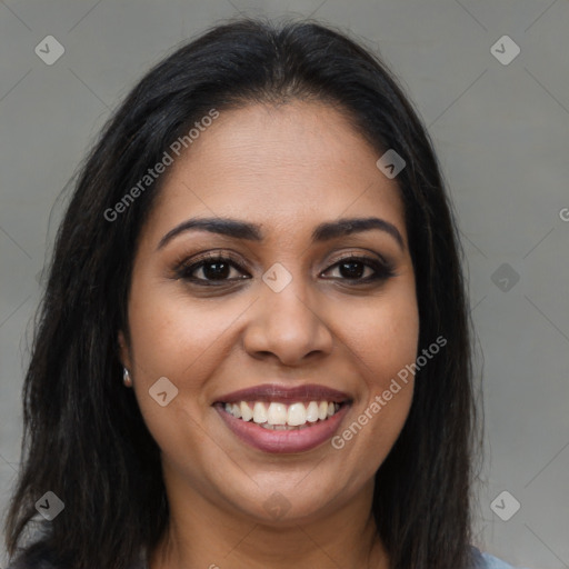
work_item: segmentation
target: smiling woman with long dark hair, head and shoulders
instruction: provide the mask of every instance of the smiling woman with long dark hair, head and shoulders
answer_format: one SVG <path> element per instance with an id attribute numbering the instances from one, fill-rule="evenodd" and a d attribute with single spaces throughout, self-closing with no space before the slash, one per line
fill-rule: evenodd
<path id="1" fill-rule="evenodd" d="M 58 233 L 13 567 L 508 567 L 469 545 L 458 247 L 428 134 L 363 48 L 241 20 L 176 51 Z"/>

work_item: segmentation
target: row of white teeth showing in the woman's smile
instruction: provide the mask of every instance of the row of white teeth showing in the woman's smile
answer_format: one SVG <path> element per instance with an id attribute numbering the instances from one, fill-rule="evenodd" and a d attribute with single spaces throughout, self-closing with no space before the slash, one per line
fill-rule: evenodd
<path id="1" fill-rule="evenodd" d="M 288 430 L 290 427 L 302 428 L 307 423 L 325 421 L 338 412 L 340 405 L 332 401 L 310 401 L 308 405 L 296 402 L 289 406 L 278 401 L 240 401 L 226 403 L 224 409 L 237 419 L 252 420 L 272 430 Z"/>

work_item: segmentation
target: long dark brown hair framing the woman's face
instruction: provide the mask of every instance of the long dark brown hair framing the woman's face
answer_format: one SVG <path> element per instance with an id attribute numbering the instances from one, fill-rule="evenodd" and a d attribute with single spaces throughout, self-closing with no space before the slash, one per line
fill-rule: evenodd
<path id="1" fill-rule="evenodd" d="M 109 220 L 163 152 L 212 108 L 295 99 L 333 104 L 377 149 L 396 149 L 417 281 L 419 351 L 408 420 L 376 475 L 373 515 L 392 569 L 470 567 L 478 456 L 471 323 L 452 206 L 432 143 L 381 60 L 312 21 L 223 22 L 158 63 L 111 117 L 81 168 L 59 228 L 27 371 L 22 467 L 6 523 L 11 556 L 70 569 L 123 569 L 153 548 L 169 509 L 159 449 L 122 387 L 117 333 L 141 227 L 161 179 Z M 107 212 L 107 216 L 106 216 Z M 39 497 L 64 515 L 27 540 Z M 41 521 L 41 520 L 40 520 Z"/>

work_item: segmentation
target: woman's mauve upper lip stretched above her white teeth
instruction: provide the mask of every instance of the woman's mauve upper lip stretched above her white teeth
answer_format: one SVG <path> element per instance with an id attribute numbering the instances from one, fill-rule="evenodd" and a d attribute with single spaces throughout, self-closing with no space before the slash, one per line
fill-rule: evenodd
<path id="1" fill-rule="evenodd" d="M 279 383 L 263 383 L 219 397 L 218 403 L 234 403 L 238 401 L 280 401 L 280 402 L 305 402 L 305 401 L 328 401 L 342 403 L 350 398 L 343 391 L 330 389 L 326 386 L 306 383 L 303 386 L 282 386 Z"/>

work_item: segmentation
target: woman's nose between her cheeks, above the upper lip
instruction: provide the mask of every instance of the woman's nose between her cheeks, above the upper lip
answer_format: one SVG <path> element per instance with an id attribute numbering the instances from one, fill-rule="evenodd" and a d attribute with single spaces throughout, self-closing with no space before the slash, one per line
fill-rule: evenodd
<path id="1" fill-rule="evenodd" d="M 321 303 L 307 296 L 299 278 L 274 292 L 262 283 L 243 332 L 246 351 L 256 359 L 276 358 L 283 366 L 299 366 L 317 355 L 330 353 L 333 336 Z"/>

